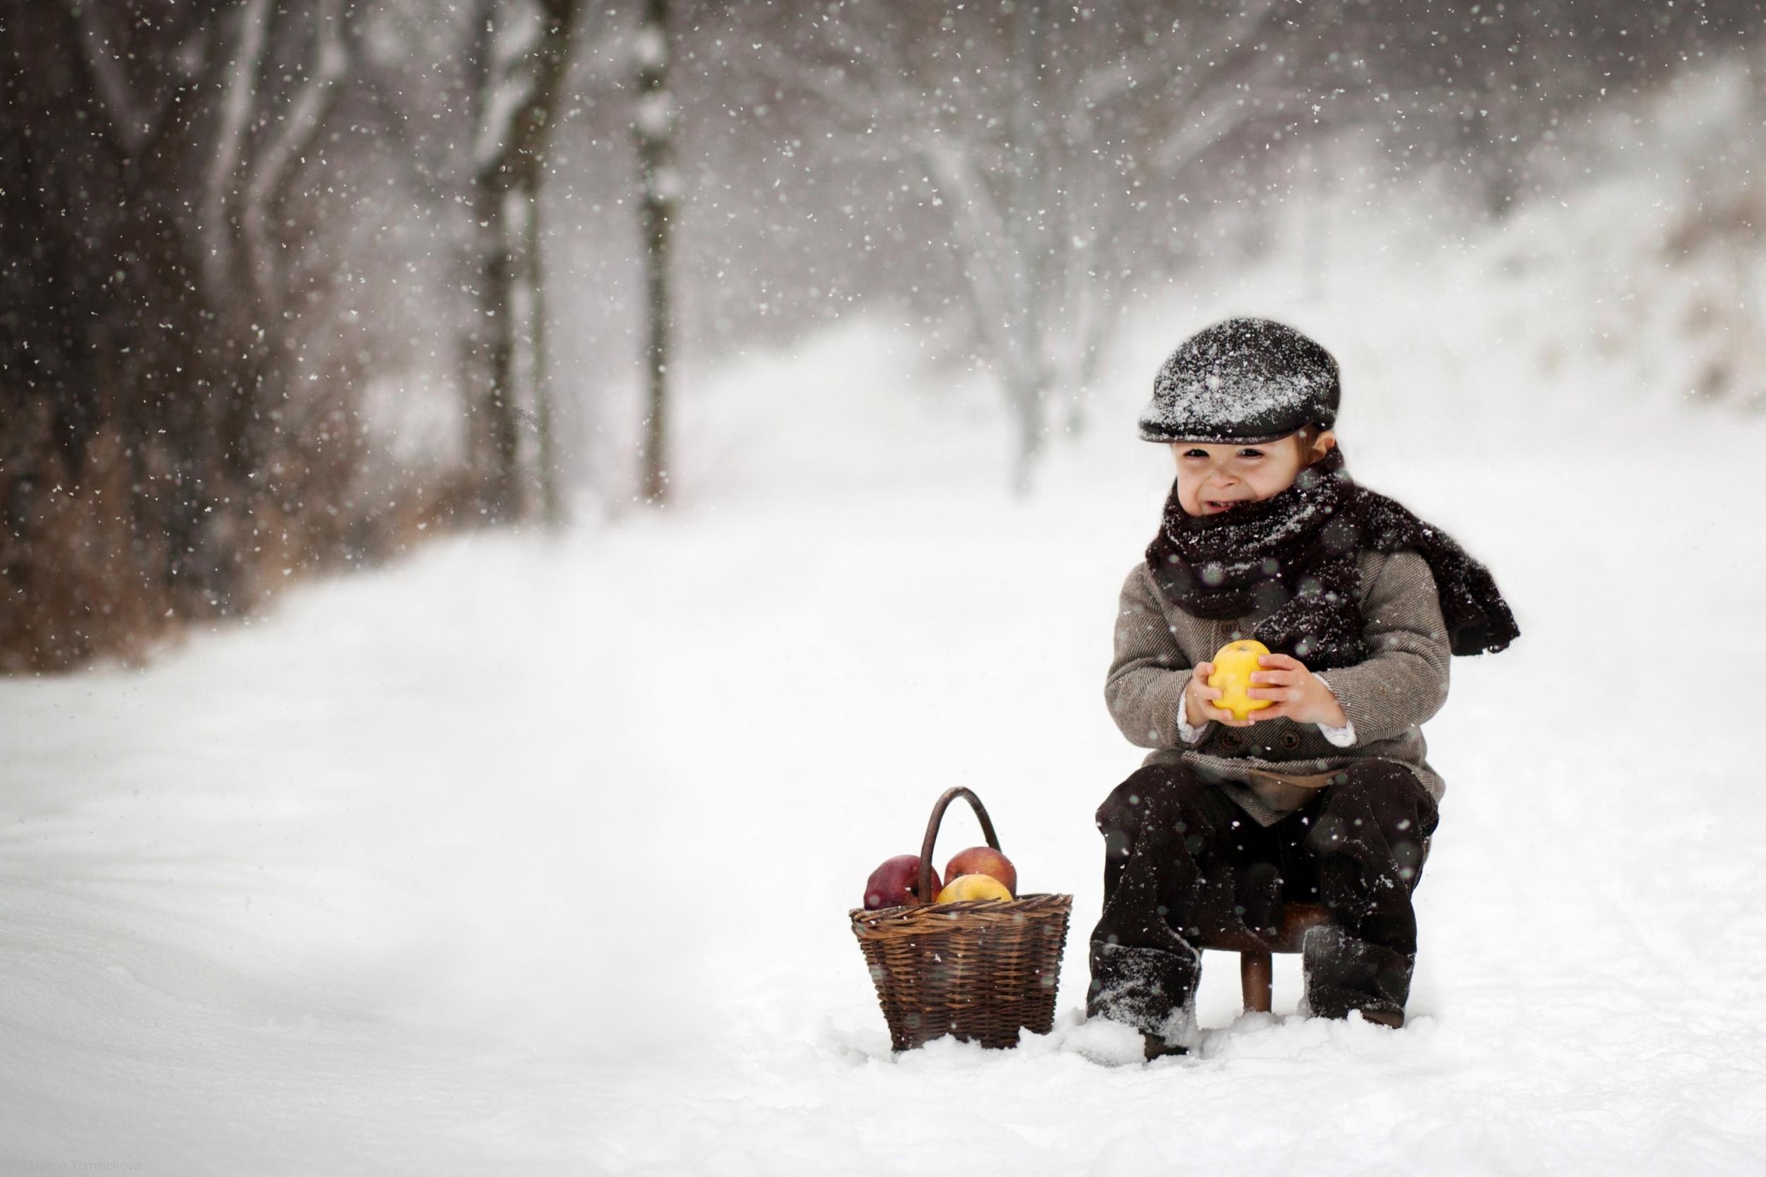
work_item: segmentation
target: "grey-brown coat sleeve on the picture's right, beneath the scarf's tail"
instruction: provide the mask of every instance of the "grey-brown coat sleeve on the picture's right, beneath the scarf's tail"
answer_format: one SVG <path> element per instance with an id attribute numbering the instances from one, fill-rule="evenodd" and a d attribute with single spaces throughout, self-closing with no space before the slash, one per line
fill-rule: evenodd
<path id="1" fill-rule="evenodd" d="M 1356 743 L 1402 736 L 1446 702 L 1452 648 L 1429 561 L 1393 552 L 1362 591 L 1365 662 L 1324 671 Z"/>

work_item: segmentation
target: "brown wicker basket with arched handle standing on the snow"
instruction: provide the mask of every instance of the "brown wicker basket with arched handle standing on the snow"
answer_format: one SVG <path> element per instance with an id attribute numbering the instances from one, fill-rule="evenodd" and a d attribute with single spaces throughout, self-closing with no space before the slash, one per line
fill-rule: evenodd
<path id="1" fill-rule="evenodd" d="M 948 789 L 925 822 L 920 895 L 931 891 L 932 842 L 955 798 L 975 808 L 987 845 L 1000 849 L 980 798 Z M 982 1046 L 1015 1046 L 1019 1027 L 1047 1034 L 1072 907 L 1072 895 L 1021 895 L 853 911 L 853 935 L 871 965 L 894 1048 L 911 1050 L 941 1034 Z"/>

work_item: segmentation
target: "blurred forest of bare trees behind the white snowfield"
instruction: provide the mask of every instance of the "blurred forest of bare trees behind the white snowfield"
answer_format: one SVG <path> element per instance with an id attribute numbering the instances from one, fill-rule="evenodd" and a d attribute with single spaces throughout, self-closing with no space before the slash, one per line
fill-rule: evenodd
<path id="1" fill-rule="evenodd" d="M 5 665 L 659 498 L 646 208 L 682 409 L 747 349 L 887 319 L 989 374 L 1030 484 L 1127 314 L 1284 217 L 1326 298 L 1328 194 L 1432 182 L 1455 236 L 1648 159 L 1695 185 L 1662 266 L 1727 256 L 1727 288 L 1614 314 L 1697 349 L 1657 395 L 1759 395 L 1757 143 L 1637 115 L 1727 62 L 1755 132 L 1755 5 L 671 4 L 9 5 Z"/>

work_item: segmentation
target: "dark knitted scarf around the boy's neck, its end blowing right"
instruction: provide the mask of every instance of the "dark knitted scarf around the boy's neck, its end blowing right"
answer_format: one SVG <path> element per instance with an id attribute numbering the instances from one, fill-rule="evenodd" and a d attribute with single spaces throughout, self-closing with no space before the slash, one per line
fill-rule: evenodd
<path id="1" fill-rule="evenodd" d="M 1439 528 L 1356 485 L 1339 448 L 1280 494 L 1215 515 L 1187 514 L 1173 482 L 1146 565 L 1164 598 L 1192 616 L 1219 621 L 1273 609 L 1252 637 L 1323 671 L 1370 653 L 1362 641 L 1356 554 L 1402 547 L 1416 549 L 1434 572 L 1455 655 L 1496 653 L 1521 635 L 1489 570 Z"/>

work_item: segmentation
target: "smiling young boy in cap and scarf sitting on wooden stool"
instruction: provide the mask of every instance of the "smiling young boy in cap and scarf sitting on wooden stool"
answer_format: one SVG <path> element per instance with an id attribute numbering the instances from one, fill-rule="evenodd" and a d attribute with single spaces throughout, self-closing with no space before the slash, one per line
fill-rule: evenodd
<path id="1" fill-rule="evenodd" d="M 1104 699 L 1153 752 L 1097 812 L 1086 1009 L 1141 1029 L 1148 1059 L 1196 1043 L 1199 944 L 1273 933 L 1284 902 L 1332 914 L 1303 941 L 1302 1009 L 1404 1023 L 1411 893 L 1445 791 L 1420 725 L 1450 655 L 1519 635 L 1480 563 L 1349 480 L 1339 401 L 1324 348 L 1234 318 L 1166 360 L 1141 415 L 1176 482 L 1123 584 Z M 1208 686 L 1240 639 L 1273 651 L 1247 692 L 1270 706 L 1245 720 Z"/>

